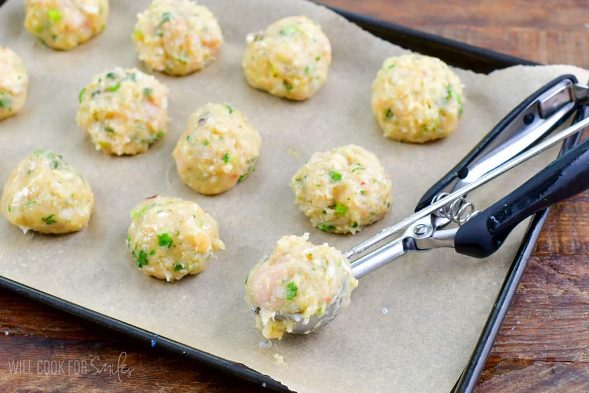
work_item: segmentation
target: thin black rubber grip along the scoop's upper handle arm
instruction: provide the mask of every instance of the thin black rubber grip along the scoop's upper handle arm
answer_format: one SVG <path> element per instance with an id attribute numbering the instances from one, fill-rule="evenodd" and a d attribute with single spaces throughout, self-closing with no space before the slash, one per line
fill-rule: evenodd
<path id="1" fill-rule="evenodd" d="M 495 140 L 495 138 L 505 131 L 505 128 L 507 128 L 509 124 L 513 123 L 515 119 L 517 119 L 518 116 L 522 114 L 522 111 L 524 111 L 528 105 L 537 100 L 537 98 L 545 93 L 545 91 L 567 79 L 573 83 L 577 82 L 577 78 L 574 75 L 562 75 L 558 78 L 555 78 L 535 91 L 534 94 L 530 95 L 530 97 L 526 98 L 524 101 L 522 101 L 521 104 L 515 107 L 514 110 L 509 112 L 507 116 L 499 121 L 497 126 L 493 127 L 493 129 L 484 138 L 482 138 L 482 140 L 470 151 L 470 153 L 466 154 L 466 156 L 462 158 L 462 161 L 460 161 L 454 168 L 452 168 L 451 171 L 446 174 L 446 176 L 438 180 L 437 183 L 435 183 L 432 187 L 430 187 L 429 190 L 425 192 L 425 194 L 423 194 L 419 200 L 419 203 L 417 204 L 417 207 L 415 208 L 415 211 L 418 212 L 419 210 L 429 206 L 429 204 L 432 203 L 434 197 L 444 191 L 446 187 L 448 187 L 448 184 L 452 183 L 452 181 L 456 180 L 456 178 L 464 179 L 466 176 L 468 176 L 468 167 L 471 166 L 471 164 L 477 160 L 479 156 L 481 156 L 481 153 L 489 146 L 489 144 Z M 558 124 L 555 124 L 555 127 L 556 126 L 558 126 Z"/>

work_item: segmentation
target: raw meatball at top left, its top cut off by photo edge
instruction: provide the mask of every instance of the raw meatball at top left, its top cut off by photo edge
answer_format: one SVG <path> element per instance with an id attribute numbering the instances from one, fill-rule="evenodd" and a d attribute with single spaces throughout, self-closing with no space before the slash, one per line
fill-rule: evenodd
<path id="1" fill-rule="evenodd" d="M 72 49 L 107 25 L 108 0 L 26 0 L 25 7 L 25 28 L 54 49 Z"/>

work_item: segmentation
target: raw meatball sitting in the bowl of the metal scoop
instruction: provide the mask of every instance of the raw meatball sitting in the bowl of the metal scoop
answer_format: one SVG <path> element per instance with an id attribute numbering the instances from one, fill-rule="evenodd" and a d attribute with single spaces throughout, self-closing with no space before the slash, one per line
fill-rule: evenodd
<path id="1" fill-rule="evenodd" d="M 308 320 L 322 315 L 336 301 L 341 300 L 341 309 L 346 308 L 358 286 L 341 252 L 327 243 L 313 245 L 308 239 L 309 233 L 283 236 L 272 254 L 246 278 L 246 302 L 259 308 L 256 326 L 266 338 L 280 339 L 295 325 L 292 319 L 274 319 L 276 314 L 299 314 Z"/>

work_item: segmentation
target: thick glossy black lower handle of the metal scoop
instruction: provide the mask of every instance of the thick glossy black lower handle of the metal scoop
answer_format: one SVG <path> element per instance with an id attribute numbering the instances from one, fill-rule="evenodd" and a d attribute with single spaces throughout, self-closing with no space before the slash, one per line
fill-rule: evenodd
<path id="1" fill-rule="evenodd" d="M 522 220 L 589 189 L 589 140 L 578 144 L 517 190 L 472 217 L 456 232 L 456 252 L 484 258 L 501 247 Z"/>

